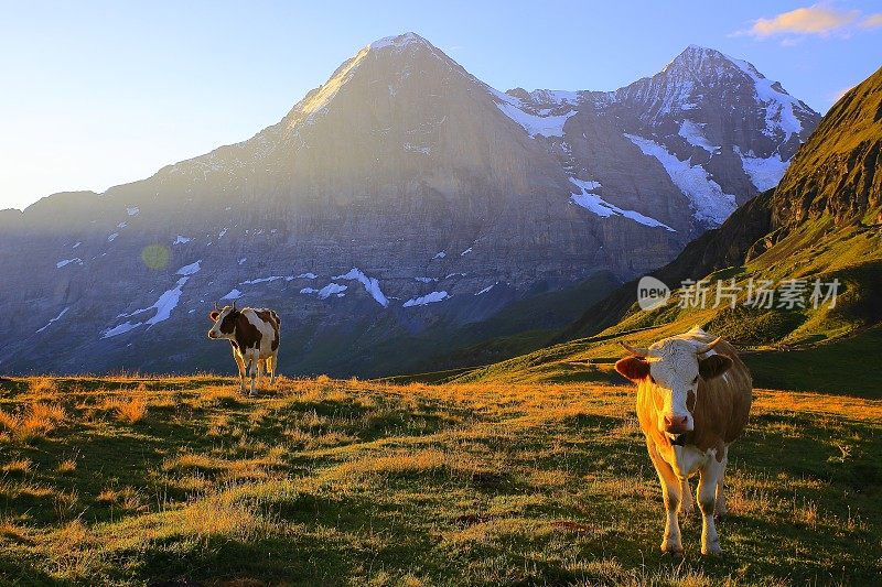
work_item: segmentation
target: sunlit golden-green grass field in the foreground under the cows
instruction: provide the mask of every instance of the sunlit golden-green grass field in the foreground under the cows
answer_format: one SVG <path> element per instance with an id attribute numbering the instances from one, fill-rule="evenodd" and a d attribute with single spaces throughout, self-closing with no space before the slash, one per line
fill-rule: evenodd
<path id="1" fill-rule="evenodd" d="M 882 574 L 882 403 L 759 390 L 725 554 L 663 556 L 627 387 L 0 383 L 8 584 L 854 584 Z"/>

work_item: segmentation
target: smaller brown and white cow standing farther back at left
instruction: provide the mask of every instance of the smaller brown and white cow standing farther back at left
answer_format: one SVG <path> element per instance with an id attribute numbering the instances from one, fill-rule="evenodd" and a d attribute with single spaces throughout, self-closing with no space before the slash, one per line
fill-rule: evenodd
<path id="1" fill-rule="evenodd" d="M 250 369 L 251 392 L 255 394 L 255 379 L 270 376 L 270 385 L 276 382 L 276 359 L 279 354 L 278 314 L 267 308 L 246 307 L 238 309 L 236 302 L 232 306 L 217 307 L 208 314 L 214 323 L 208 330 L 208 338 L 216 340 L 226 338 L 233 347 L 233 358 L 239 367 L 239 389 L 245 393 L 246 366 Z"/>

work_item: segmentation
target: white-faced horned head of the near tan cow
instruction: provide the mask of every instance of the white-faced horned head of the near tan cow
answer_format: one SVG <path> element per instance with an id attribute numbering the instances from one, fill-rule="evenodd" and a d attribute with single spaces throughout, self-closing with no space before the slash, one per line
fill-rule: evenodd
<path id="1" fill-rule="evenodd" d="M 615 370 L 649 394 L 658 430 L 670 437 L 695 427 L 692 412 L 701 380 L 713 379 L 732 366 L 732 359 L 711 352 L 721 338 L 707 344 L 668 338 L 649 348 L 622 346 L 632 354 L 615 363 Z"/>

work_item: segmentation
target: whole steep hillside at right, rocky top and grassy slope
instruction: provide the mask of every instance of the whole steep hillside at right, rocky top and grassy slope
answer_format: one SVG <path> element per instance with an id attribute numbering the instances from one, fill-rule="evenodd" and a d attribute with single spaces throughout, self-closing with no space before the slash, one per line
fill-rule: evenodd
<path id="1" fill-rule="evenodd" d="M 650 311 L 633 281 L 564 329 L 558 344 L 461 376 L 466 380 L 606 379 L 619 341 L 648 346 L 695 324 L 749 352 L 761 387 L 880 398 L 882 343 L 882 68 L 851 89 L 797 152 L 778 186 L 741 206 L 652 274 L 677 287 L 686 280 L 739 289 L 735 307 L 677 307 L 684 290 Z M 751 306 L 750 284 L 805 284 L 804 304 Z M 799 282 L 797 281 L 797 283 Z M 838 283 L 835 303 L 811 302 Z M 779 292 L 779 289 L 776 289 Z M 713 295 L 711 290 L 710 296 Z"/>

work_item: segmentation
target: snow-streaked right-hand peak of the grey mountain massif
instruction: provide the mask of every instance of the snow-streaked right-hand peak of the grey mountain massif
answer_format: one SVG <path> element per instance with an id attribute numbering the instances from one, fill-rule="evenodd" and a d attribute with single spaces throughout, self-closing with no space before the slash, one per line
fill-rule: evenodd
<path id="1" fill-rule="evenodd" d="M 692 211 L 687 220 L 698 225 L 693 233 L 774 187 L 820 118 L 750 63 L 695 45 L 663 72 L 613 93 L 509 94 L 534 112 L 566 116 L 569 105 L 582 105 L 578 126 L 549 137 L 561 163 L 595 178 L 603 197 L 638 209 L 649 203 L 671 222 L 684 220 L 678 197 L 685 197 Z M 636 164 L 660 180 L 641 177 L 635 186 L 632 162 L 622 161 L 635 146 L 646 155 Z M 662 200 L 650 199 L 658 191 Z M 671 217 L 657 211 L 666 203 L 676 204 Z"/>

